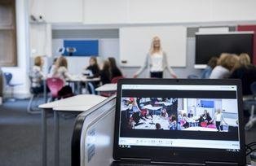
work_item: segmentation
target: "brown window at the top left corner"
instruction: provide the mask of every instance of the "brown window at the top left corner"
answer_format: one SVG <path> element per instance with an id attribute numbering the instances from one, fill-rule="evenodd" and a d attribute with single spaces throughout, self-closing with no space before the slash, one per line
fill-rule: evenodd
<path id="1" fill-rule="evenodd" d="M 16 66 L 15 0 L 0 0 L 0 67 Z"/>

